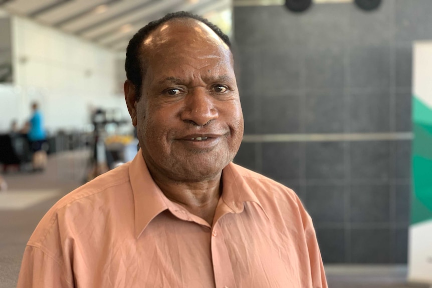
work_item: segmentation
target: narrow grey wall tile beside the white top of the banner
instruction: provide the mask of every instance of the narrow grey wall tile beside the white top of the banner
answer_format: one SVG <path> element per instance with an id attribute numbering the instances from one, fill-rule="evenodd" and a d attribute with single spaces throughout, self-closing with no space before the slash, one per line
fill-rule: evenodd
<path id="1" fill-rule="evenodd" d="M 412 85 L 412 43 L 401 43 L 394 46 L 395 83 L 396 87 Z"/>

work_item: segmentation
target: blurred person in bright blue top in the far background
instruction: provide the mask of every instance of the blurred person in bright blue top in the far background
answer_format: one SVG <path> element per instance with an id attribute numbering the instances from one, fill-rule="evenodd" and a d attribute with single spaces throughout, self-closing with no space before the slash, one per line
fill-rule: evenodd
<path id="1" fill-rule="evenodd" d="M 28 122 L 27 137 L 33 152 L 32 165 L 36 171 L 44 170 L 47 166 L 47 152 L 44 150 L 46 144 L 46 134 L 44 130 L 44 117 L 39 110 L 37 102 L 32 103 L 32 117 Z"/>

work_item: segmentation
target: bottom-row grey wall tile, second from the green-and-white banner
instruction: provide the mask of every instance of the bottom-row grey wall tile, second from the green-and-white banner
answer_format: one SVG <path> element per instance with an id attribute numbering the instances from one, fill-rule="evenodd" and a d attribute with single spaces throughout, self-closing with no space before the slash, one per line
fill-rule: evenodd
<path id="1" fill-rule="evenodd" d="M 352 229 L 351 262 L 353 263 L 389 263 L 389 229 Z"/>

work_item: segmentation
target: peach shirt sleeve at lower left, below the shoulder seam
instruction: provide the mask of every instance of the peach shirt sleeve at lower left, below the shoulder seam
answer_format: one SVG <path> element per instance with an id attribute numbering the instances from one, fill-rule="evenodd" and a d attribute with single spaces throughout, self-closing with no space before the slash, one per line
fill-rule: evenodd
<path id="1" fill-rule="evenodd" d="M 21 264 L 17 288 L 73 288 L 64 265 L 39 247 L 27 245 Z"/>

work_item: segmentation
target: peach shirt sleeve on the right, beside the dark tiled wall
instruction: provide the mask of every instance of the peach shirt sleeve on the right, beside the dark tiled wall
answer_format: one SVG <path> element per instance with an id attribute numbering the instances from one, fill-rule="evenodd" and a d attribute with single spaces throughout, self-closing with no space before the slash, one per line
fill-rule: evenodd
<path id="1" fill-rule="evenodd" d="M 306 212 L 305 208 L 298 200 L 300 213 L 303 219 L 303 227 L 306 235 L 306 244 L 309 252 L 309 261 L 311 266 L 312 287 L 328 288 L 324 271 L 324 264 L 321 258 L 321 252 L 318 246 L 315 229 L 312 224 L 312 218 Z"/>

